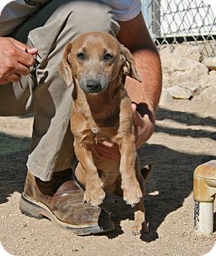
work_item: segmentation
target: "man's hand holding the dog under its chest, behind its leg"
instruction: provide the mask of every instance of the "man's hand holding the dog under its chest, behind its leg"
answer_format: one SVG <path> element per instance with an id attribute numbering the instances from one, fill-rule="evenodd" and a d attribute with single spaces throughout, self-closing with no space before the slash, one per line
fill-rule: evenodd
<path id="1" fill-rule="evenodd" d="M 152 122 L 148 114 L 141 117 L 141 114 L 137 111 L 137 105 L 132 103 L 133 109 L 133 121 L 134 121 L 134 135 L 136 140 L 136 148 L 140 148 L 154 132 L 155 124 Z M 96 146 L 96 152 L 101 158 L 120 160 L 120 152 L 117 145 L 113 145 L 110 142 L 99 142 Z"/>

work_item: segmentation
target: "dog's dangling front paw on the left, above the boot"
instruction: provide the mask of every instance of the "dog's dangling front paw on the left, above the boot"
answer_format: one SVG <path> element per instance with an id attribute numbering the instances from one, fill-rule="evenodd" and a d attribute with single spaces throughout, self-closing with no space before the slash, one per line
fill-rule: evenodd
<path id="1" fill-rule="evenodd" d="M 94 189 L 93 191 L 85 190 L 84 202 L 89 202 L 90 205 L 98 207 L 103 203 L 106 193 L 103 191 L 103 188 Z"/>

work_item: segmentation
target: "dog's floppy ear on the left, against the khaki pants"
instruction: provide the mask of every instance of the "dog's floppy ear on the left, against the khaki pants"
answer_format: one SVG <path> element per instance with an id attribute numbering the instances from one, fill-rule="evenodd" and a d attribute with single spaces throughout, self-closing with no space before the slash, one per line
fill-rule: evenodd
<path id="1" fill-rule="evenodd" d="M 71 72 L 71 62 L 70 62 L 70 54 L 71 54 L 72 44 L 69 43 L 64 48 L 64 54 L 61 63 L 58 65 L 58 71 L 64 78 L 67 86 L 71 86 L 73 82 L 73 75 Z"/>

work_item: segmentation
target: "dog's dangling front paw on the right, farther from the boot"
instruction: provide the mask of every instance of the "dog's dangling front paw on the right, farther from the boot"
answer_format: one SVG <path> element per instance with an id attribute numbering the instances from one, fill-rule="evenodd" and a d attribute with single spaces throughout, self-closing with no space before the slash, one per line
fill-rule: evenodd
<path id="1" fill-rule="evenodd" d="M 131 205 L 132 207 L 134 207 L 134 205 L 138 204 L 138 202 L 140 202 L 141 198 L 142 198 L 142 191 L 141 188 L 139 186 L 139 184 L 137 186 L 131 186 L 131 188 L 127 188 L 127 189 L 123 189 L 123 198 L 124 201 L 127 203 L 127 205 Z"/>

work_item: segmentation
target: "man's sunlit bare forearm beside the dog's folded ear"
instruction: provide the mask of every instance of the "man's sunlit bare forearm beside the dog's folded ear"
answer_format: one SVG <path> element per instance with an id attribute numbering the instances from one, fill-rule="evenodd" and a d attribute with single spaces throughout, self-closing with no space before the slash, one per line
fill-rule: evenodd
<path id="1" fill-rule="evenodd" d="M 148 111 L 151 111 L 152 117 L 155 118 L 162 89 L 159 54 L 154 48 L 140 48 L 135 50 L 133 55 L 141 82 L 127 77 L 125 82 L 127 93 L 131 100 L 137 103 L 137 110 L 141 115 L 148 114 Z"/>

